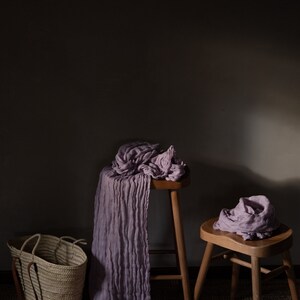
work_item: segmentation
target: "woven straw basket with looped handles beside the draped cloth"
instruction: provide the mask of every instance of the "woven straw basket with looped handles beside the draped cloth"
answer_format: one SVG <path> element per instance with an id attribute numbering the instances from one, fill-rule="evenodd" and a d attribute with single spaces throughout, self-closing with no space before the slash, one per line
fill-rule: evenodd
<path id="1" fill-rule="evenodd" d="M 83 242 L 72 237 L 42 234 L 8 241 L 19 297 L 26 300 L 80 300 L 87 256 L 77 243 Z"/>

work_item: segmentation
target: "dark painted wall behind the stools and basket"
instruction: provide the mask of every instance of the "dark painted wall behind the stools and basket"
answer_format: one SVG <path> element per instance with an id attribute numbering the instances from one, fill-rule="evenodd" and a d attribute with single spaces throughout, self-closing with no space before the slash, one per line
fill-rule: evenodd
<path id="1" fill-rule="evenodd" d="M 254 194 L 294 228 L 300 263 L 298 11 L 245 2 L 1 2 L 1 269 L 19 234 L 90 241 L 98 174 L 135 139 L 173 144 L 191 168 L 190 265 L 200 223 Z M 161 197 L 153 245 L 170 243 Z"/>

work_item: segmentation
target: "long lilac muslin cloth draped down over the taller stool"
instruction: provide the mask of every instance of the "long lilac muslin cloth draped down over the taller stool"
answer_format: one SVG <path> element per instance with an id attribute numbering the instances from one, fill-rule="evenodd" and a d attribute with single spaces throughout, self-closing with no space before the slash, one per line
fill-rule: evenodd
<path id="1" fill-rule="evenodd" d="M 93 300 L 150 300 L 147 214 L 151 177 L 177 180 L 184 163 L 174 147 L 135 142 L 120 147 L 99 177 L 90 269 Z"/>

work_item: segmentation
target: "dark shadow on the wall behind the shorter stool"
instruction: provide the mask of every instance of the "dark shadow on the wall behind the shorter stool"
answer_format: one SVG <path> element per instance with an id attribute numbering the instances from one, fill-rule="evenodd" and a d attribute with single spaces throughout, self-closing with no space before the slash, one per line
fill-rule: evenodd
<path id="1" fill-rule="evenodd" d="M 218 216 L 222 208 L 234 208 L 240 197 L 252 195 L 265 195 L 275 207 L 277 218 L 293 228 L 292 253 L 299 253 L 299 179 L 275 182 L 244 167 L 207 161 L 191 162 L 190 168 L 191 186 L 182 191 L 189 265 L 198 265 L 203 253 L 204 244 L 199 239 L 199 225 L 207 218 Z M 296 255 L 294 257 L 297 258 Z M 300 261 L 295 263 L 299 264 Z"/>

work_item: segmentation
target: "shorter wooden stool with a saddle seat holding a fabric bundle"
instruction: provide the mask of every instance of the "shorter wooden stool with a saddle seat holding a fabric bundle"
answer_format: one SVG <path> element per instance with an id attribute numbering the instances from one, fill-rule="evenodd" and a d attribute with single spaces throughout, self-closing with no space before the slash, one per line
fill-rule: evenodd
<path id="1" fill-rule="evenodd" d="M 295 275 L 289 253 L 293 242 L 293 232 L 290 228 L 281 224 L 278 233 L 270 238 L 244 241 L 243 238 L 237 234 L 214 230 L 213 224 L 217 219 L 218 218 L 210 219 L 204 222 L 200 227 L 200 237 L 206 241 L 207 244 L 195 285 L 194 299 L 199 299 L 211 259 L 218 257 L 228 258 L 233 263 L 231 299 L 234 299 L 236 296 L 240 265 L 251 269 L 253 300 L 261 299 L 261 273 L 264 273 L 266 279 L 269 279 L 283 271 L 285 271 L 288 278 L 292 299 L 298 299 Z M 212 251 L 215 245 L 225 248 L 227 251 L 212 257 Z M 251 263 L 238 258 L 238 253 L 250 256 Z M 273 270 L 268 270 L 260 266 L 260 258 L 271 257 L 278 254 L 282 255 L 282 266 Z"/>

